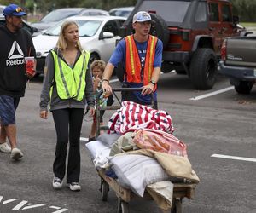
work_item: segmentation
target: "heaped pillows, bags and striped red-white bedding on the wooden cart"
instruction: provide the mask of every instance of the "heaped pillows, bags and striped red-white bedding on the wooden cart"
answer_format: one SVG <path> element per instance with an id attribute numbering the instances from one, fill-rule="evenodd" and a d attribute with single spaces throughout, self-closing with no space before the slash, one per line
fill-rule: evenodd
<path id="1" fill-rule="evenodd" d="M 147 190 L 167 210 L 172 206 L 173 183 L 199 182 L 186 145 L 172 135 L 172 118 L 167 112 L 123 101 L 108 128 L 108 133 L 85 146 L 96 170 L 104 170 L 121 187 L 140 197 Z"/>

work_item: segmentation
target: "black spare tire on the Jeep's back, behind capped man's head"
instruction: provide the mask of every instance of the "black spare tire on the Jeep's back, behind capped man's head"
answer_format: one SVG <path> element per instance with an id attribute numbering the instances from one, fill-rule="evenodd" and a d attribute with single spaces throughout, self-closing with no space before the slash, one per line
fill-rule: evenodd
<path id="1" fill-rule="evenodd" d="M 166 45 L 169 42 L 169 29 L 168 26 L 166 25 L 166 21 L 163 20 L 163 18 L 158 15 L 158 14 L 150 14 L 152 24 L 151 24 L 151 29 L 150 29 L 150 34 L 152 36 L 160 38 L 160 40 L 163 42 L 163 47 L 165 48 Z M 127 26 L 127 35 L 131 35 L 133 33 L 133 28 L 132 28 L 132 20 L 130 21 L 129 25 Z"/>

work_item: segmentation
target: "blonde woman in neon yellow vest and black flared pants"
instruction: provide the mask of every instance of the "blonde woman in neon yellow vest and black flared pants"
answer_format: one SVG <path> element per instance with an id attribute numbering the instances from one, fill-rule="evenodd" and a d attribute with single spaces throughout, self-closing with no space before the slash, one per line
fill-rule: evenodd
<path id="1" fill-rule="evenodd" d="M 62 187 L 66 174 L 69 142 L 67 187 L 72 191 L 81 190 L 79 141 L 86 103 L 91 116 L 95 112 L 89 59 L 90 53 L 79 43 L 79 26 L 74 21 L 64 22 L 56 47 L 45 61 L 40 101 L 40 117 L 47 118 L 49 105 L 55 122 L 57 142 L 52 182 L 55 189 Z"/>

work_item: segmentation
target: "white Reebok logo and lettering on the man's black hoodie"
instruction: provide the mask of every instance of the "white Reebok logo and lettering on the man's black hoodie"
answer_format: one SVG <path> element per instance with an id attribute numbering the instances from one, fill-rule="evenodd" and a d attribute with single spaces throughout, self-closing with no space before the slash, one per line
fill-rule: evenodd
<path id="1" fill-rule="evenodd" d="M 9 51 L 8 60 L 6 60 L 6 66 L 22 65 L 24 63 L 25 60 L 22 49 L 20 49 L 19 43 L 15 41 Z"/>

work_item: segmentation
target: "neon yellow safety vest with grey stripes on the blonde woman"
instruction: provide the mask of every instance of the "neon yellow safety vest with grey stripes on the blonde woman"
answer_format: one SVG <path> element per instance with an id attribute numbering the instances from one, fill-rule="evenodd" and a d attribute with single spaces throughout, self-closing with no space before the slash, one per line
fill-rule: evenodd
<path id="1" fill-rule="evenodd" d="M 83 100 L 85 90 L 85 74 L 90 59 L 90 53 L 83 51 L 72 67 L 51 51 L 55 63 L 55 82 L 57 94 L 61 99 L 73 98 Z"/>

